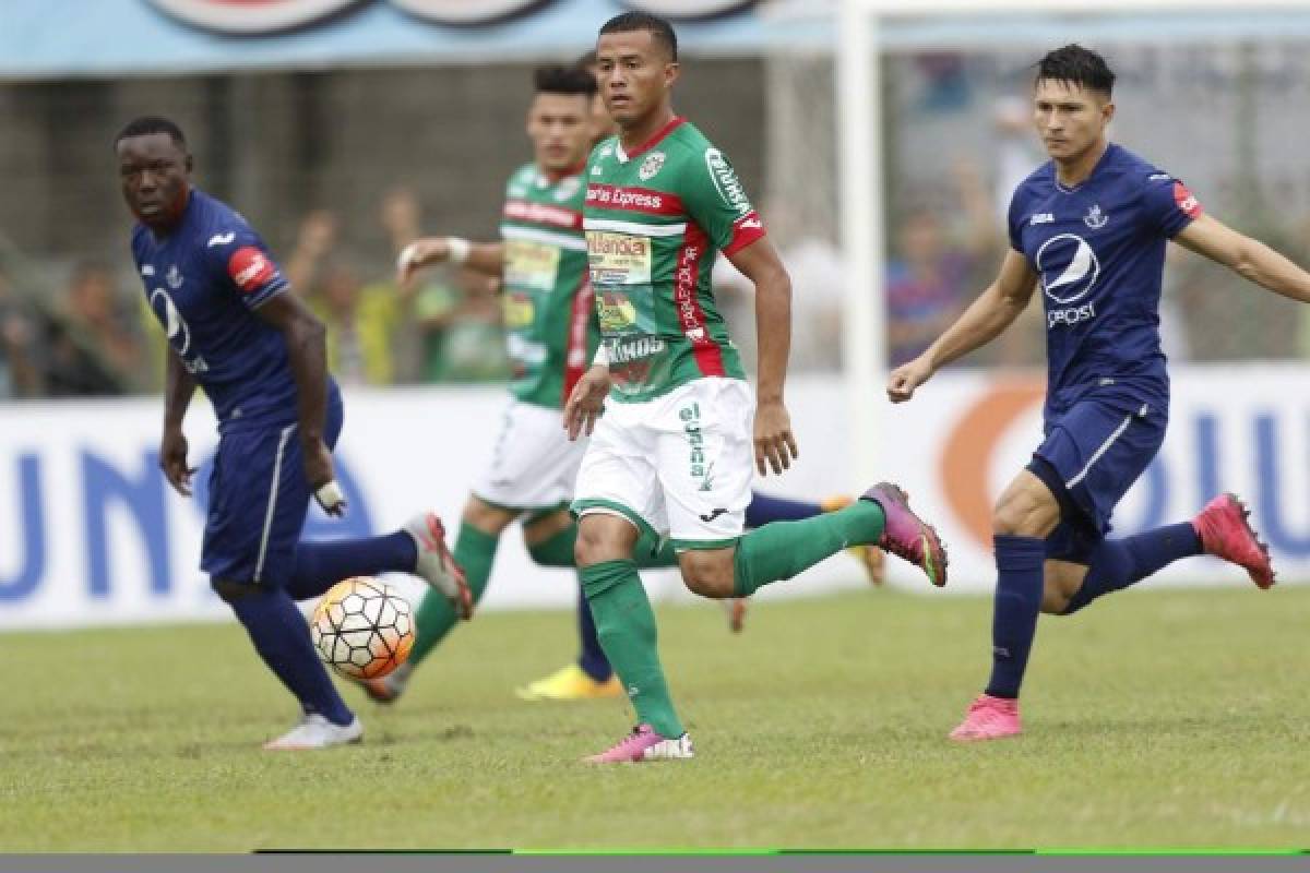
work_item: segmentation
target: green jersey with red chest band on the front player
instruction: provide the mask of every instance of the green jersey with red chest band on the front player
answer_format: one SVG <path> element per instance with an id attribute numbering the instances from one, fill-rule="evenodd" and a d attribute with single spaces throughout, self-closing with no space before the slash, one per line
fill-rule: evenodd
<path id="1" fill-rule="evenodd" d="M 587 165 L 587 259 L 613 398 L 647 401 L 706 376 L 745 378 L 710 271 L 765 234 L 732 165 L 672 119 L 631 152 L 600 143 Z"/>

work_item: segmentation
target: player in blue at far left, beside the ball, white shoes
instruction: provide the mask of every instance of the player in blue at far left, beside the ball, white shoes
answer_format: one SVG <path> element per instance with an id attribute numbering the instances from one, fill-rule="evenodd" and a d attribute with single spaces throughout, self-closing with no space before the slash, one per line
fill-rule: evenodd
<path id="1" fill-rule="evenodd" d="M 169 340 L 160 467 L 191 493 L 182 419 L 199 385 L 220 435 L 200 568 L 304 712 L 265 749 L 358 742 L 363 726 L 333 687 L 295 601 L 351 576 L 410 572 L 468 618 L 462 572 L 432 513 L 384 537 L 297 542 L 310 495 L 329 514 L 346 510 L 331 458 L 342 401 L 324 363 L 324 326 L 290 293 L 245 219 L 191 186 L 177 124 L 139 118 L 114 149 L 138 220 L 132 257 Z"/>

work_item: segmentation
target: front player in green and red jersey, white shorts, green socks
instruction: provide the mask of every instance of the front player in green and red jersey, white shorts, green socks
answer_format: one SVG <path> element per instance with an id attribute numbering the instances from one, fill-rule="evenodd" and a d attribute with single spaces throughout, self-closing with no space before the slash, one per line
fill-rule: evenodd
<path id="1" fill-rule="evenodd" d="M 586 174 L 603 344 L 565 421 L 570 436 L 591 435 L 572 504 L 578 567 L 639 724 L 590 760 L 690 758 L 637 573 L 638 539 L 667 534 L 686 586 L 713 598 L 748 597 L 853 543 L 878 543 L 942 585 L 946 554 L 886 483 L 845 509 L 743 535 L 752 455 L 761 475 L 796 457 L 783 403 L 791 281 L 727 157 L 673 114 L 677 38 L 668 22 L 617 16 L 601 27 L 596 56 L 620 127 L 592 151 Z M 755 283 L 758 407 L 714 305 L 718 251 Z"/>

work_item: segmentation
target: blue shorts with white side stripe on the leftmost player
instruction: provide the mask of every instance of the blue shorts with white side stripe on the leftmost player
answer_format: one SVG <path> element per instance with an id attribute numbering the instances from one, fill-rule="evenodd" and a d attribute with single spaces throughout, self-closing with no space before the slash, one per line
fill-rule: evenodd
<path id="1" fill-rule="evenodd" d="M 337 446 L 342 418 L 341 394 L 331 389 L 324 427 L 330 449 Z M 295 424 L 241 429 L 219 440 L 200 552 L 200 569 L 211 579 L 287 584 L 312 496 L 297 429 Z"/>

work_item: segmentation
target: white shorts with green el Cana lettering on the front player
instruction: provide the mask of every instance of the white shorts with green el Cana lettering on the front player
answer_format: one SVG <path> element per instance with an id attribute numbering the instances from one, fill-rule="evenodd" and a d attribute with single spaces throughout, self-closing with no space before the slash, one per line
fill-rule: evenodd
<path id="1" fill-rule="evenodd" d="M 605 401 L 574 512 L 621 516 L 679 551 L 730 546 L 751 503 L 753 423 L 743 380 L 702 378 L 646 403 Z"/>

